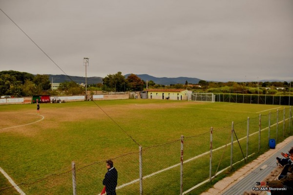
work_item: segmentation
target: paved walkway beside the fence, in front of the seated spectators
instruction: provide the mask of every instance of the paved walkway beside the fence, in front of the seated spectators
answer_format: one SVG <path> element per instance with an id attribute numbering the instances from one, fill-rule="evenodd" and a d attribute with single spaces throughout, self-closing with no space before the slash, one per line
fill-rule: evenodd
<path id="1" fill-rule="evenodd" d="M 276 157 L 283 157 L 280 152 L 288 152 L 292 146 L 293 136 L 290 136 L 282 143 L 277 144 L 275 149 L 260 155 L 229 177 L 218 181 L 201 195 L 243 195 L 245 191 L 251 191 L 257 181 L 262 181 L 267 174 L 270 174 L 277 167 Z"/>

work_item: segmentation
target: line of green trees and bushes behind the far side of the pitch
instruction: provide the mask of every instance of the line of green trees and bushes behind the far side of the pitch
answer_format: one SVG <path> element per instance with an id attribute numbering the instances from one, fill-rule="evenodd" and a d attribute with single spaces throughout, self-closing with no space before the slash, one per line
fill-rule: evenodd
<path id="1" fill-rule="evenodd" d="M 197 84 L 160 85 L 153 81 L 142 80 L 135 74 L 127 78 L 122 72 L 108 74 L 103 83 L 87 85 L 88 91 L 142 91 L 151 88 L 182 88 L 193 92 L 210 93 L 242 93 L 242 94 L 282 94 L 291 92 L 293 82 L 207 82 L 200 80 Z M 85 86 L 80 86 L 73 81 L 60 83 L 58 90 L 51 89 L 48 75 L 33 75 L 27 72 L 14 70 L 0 71 L 0 95 L 33 96 L 33 95 L 78 95 L 84 93 Z"/>

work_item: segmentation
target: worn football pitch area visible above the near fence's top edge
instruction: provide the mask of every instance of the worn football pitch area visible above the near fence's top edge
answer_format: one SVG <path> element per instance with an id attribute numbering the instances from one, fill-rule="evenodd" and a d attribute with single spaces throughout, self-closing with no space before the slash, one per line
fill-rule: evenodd
<path id="1" fill-rule="evenodd" d="M 112 100 L 0 106 L 0 167 L 16 183 L 223 128 L 284 106 Z M 285 108 L 288 108 L 285 107 Z M 245 135 L 246 132 L 243 132 Z M 103 170 L 105 172 L 105 170 Z M 0 187 L 6 183 L 0 176 Z"/>

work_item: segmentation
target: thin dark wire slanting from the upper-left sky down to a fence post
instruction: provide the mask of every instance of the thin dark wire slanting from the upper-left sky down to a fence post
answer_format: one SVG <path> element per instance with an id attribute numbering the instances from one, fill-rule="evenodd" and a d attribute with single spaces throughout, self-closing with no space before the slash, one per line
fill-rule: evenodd
<path id="1" fill-rule="evenodd" d="M 74 82 L 64 71 L 63 71 L 63 69 L 59 66 L 59 65 L 57 65 L 55 62 L 54 62 L 54 60 L 52 60 L 52 58 L 50 58 L 50 56 L 48 55 L 48 54 L 46 54 L 46 52 L 44 52 L 43 50 L 42 50 L 42 48 L 37 44 L 37 43 L 35 43 L 22 29 L 21 29 L 21 27 L 19 26 L 19 25 L 17 25 L 17 23 L 16 22 L 14 22 L 1 8 L 0 8 L 0 10 L 1 10 L 1 12 L 3 12 L 3 14 L 7 17 L 7 18 L 9 18 L 9 20 L 11 21 L 11 22 L 13 22 L 25 35 L 26 35 L 26 37 L 27 38 L 29 38 L 42 52 L 43 52 L 43 54 L 45 54 L 72 82 Z M 74 82 L 75 83 L 75 82 Z M 76 84 L 76 83 L 75 83 Z M 76 84 L 77 85 L 77 84 Z M 84 92 L 84 90 L 79 86 L 79 85 L 77 85 L 82 91 L 83 91 L 83 93 L 85 94 L 85 92 Z M 85 94 L 86 95 L 86 94 Z M 105 112 L 105 110 L 104 109 L 102 109 L 95 101 L 92 101 L 98 108 L 100 108 L 104 113 L 105 113 L 105 115 L 107 116 L 107 117 L 109 117 L 110 119 L 111 119 L 111 121 L 120 129 L 120 130 L 122 130 L 134 143 L 136 143 L 138 146 L 140 146 L 138 143 L 137 143 L 137 141 L 135 141 L 133 138 L 132 138 L 132 136 L 129 134 L 129 133 L 127 133 L 126 132 L 126 130 L 124 130 L 110 115 L 108 115 L 106 112 Z"/>

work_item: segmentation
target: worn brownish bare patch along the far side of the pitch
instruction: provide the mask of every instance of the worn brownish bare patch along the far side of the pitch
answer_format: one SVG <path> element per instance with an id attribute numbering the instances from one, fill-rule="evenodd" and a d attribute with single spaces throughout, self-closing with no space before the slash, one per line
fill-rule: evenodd
<path id="1" fill-rule="evenodd" d="M 15 131 L 25 136 L 34 135 L 39 129 L 58 128 L 63 122 L 85 121 L 90 119 L 105 120 L 108 116 L 119 117 L 127 112 L 137 112 L 145 109 L 184 108 L 190 104 L 204 104 L 201 102 L 162 102 L 162 104 L 127 104 L 115 106 L 92 107 L 42 107 L 40 115 L 35 110 L 0 113 L 0 133 Z M 43 117 L 43 120 L 40 120 Z M 35 123 L 34 123 L 35 122 Z"/>

